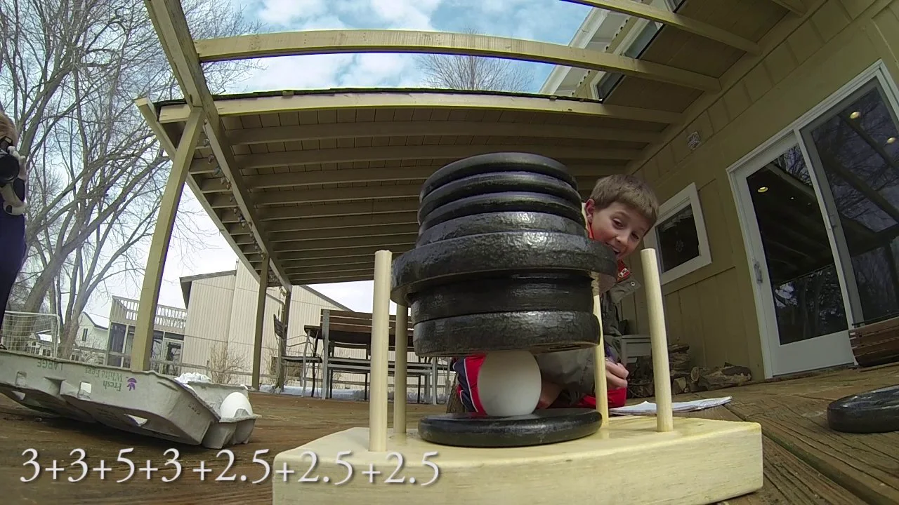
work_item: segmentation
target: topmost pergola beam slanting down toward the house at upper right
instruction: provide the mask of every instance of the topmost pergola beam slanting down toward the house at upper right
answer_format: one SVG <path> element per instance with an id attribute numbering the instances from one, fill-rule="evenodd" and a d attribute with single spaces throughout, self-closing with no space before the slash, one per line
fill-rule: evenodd
<path id="1" fill-rule="evenodd" d="M 583 4 L 598 9 L 605 9 L 613 13 L 622 13 L 649 21 L 661 22 L 666 26 L 671 26 L 677 30 L 687 31 L 699 37 L 705 37 L 708 40 L 721 42 L 732 48 L 740 49 L 752 55 L 761 52 L 759 45 L 752 40 L 745 39 L 739 35 L 735 35 L 730 31 L 726 31 L 717 26 L 692 19 L 688 16 L 672 13 L 664 9 L 653 7 L 652 5 L 641 4 L 633 0 L 565 0 L 572 4 Z"/>

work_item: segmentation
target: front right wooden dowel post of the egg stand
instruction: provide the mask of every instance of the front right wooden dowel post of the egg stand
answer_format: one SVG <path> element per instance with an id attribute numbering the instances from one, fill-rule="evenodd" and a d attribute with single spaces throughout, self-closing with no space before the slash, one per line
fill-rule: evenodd
<path id="1" fill-rule="evenodd" d="M 646 306 L 649 310 L 649 339 L 653 351 L 656 430 L 671 431 L 674 429 L 672 376 L 668 364 L 668 335 L 665 332 L 659 264 L 654 249 L 640 251 L 640 259 L 643 260 Z"/>

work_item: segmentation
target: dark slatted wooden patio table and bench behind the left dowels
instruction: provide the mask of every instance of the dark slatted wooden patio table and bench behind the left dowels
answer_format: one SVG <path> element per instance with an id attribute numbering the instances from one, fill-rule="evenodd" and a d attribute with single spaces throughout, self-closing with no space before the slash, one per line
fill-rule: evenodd
<path id="1" fill-rule="evenodd" d="M 396 350 L 396 315 L 391 315 L 388 323 L 389 349 Z M 371 372 L 371 314 L 364 312 L 351 312 L 332 309 L 322 309 L 320 326 L 305 327 L 307 335 L 314 339 L 313 355 L 317 354 L 317 341 L 323 341 L 322 352 L 322 396 L 331 398 L 333 392 L 334 373 L 345 372 L 363 374 L 366 376 L 364 395 L 368 398 L 369 374 Z M 413 328 L 407 328 L 406 350 L 413 350 Z M 366 358 L 341 358 L 334 357 L 334 348 L 364 349 Z M 396 372 L 396 363 L 387 363 L 387 373 Z M 432 403 L 437 401 L 437 363 L 410 361 L 407 363 L 406 377 L 419 379 L 419 400 L 421 400 L 421 380 L 424 379 L 427 388 L 430 382 L 432 387 Z M 315 390 L 315 368 L 313 369 L 313 391 Z"/>

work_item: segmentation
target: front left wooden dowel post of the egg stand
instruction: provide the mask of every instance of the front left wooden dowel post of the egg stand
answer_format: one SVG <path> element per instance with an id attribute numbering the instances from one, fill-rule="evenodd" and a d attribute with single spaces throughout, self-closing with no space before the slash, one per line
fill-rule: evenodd
<path id="1" fill-rule="evenodd" d="M 390 349 L 390 268 L 393 253 L 375 253 L 375 281 L 371 307 L 371 396 L 369 451 L 387 450 L 387 351 Z"/>

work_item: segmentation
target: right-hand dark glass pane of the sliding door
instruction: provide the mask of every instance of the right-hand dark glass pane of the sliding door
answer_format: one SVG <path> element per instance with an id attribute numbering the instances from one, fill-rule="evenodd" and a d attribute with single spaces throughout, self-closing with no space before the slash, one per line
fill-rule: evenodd
<path id="1" fill-rule="evenodd" d="M 899 130 L 877 83 L 841 103 L 807 132 L 814 164 L 832 196 L 832 221 L 849 253 L 862 314 L 899 314 Z M 857 309 L 858 310 L 858 309 Z"/>

